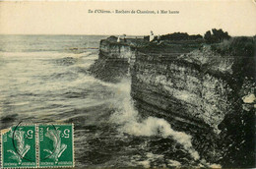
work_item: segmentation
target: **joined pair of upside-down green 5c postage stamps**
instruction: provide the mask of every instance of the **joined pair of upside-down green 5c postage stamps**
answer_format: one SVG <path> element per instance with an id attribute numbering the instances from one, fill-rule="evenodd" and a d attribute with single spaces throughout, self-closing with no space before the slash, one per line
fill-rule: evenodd
<path id="1" fill-rule="evenodd" d="M 73 124 L 20 125 L 1 131 L 1 168 L 74 166 Z"/>

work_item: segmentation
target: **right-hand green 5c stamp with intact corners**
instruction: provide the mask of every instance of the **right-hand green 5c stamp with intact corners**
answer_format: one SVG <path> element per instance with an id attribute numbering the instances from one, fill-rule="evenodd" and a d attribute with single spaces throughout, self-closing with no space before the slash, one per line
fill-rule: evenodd
<path id="1" fill-rule="evenodd" d="M 73 126 L 38 125 L 39 167 L 74 165 Z"/>

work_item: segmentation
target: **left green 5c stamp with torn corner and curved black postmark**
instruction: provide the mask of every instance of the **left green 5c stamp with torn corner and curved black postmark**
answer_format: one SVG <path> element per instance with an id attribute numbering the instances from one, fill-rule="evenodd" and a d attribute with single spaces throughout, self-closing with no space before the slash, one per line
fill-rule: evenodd
<path id="1" fill-rule="evenodd" d="M 35 126 L 16 126 L 1 136 L 2 167 L 36 167 Z"/>

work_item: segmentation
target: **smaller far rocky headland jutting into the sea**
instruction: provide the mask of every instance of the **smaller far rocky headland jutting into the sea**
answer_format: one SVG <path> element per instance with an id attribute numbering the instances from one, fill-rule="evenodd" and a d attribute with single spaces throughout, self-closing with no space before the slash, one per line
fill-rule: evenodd
<path id="1" fill-rule="evenodd" d="M 104 39 L 100 41 L 98 59 L 90 72 L 102 81 L 117 83 L 129 76 L 134 58 L 134 49 L 128 43 Z"/>

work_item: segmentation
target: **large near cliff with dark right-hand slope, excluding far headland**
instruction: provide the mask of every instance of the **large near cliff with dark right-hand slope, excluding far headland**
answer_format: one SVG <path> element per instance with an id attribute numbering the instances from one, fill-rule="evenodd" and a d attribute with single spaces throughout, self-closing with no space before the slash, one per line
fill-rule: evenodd
<path id="1" fill-rule="evenodd" d="M 131 91 L 138 111 L 192 135 L 196 149 L 210 161 L 254 166 L 255 99 L 250 105 L 243 100 L 254 97 L 255 84 L 240 64 L 244 58 L 254 63 L 253 56 L 223 56 L 210 46 L 167 48 L 138 48 Z"/>

